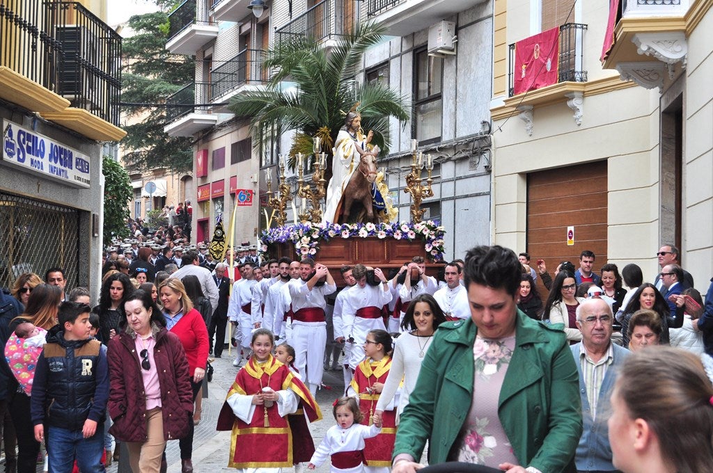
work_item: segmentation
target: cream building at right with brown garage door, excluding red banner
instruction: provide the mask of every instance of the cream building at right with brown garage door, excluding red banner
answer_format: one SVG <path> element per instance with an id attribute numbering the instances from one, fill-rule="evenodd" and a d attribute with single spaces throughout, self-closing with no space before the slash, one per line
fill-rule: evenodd
<path id="1" fill-rule="evenodd" d="M 595 269 L 634 262 L 647 281 L 672 243 L 707 287 L 713 158 L 699 131 L 713 123 L 711 4 L 496 0 L 494 242 L 550 269 L 590 249 Z M 551 28 L 558 79 L 518 93 L 515 49 Z"/>

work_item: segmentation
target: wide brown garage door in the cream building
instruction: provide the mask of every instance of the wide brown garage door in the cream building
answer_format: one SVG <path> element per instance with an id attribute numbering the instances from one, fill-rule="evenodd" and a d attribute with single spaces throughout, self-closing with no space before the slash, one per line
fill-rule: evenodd
<path id="1" fill-rule="evenodd" d="M 532 172 L 528 175 L 527 247 L 535 264 L 545 260 L 550 274 L 560 261 L 579 267 L 579 255 L 594 251 L 594 269 L 607 262 L 607 162 Z M 567 229 L 574 227 L 574 244 Z M 540 294 L 547 296 L 540 278 Z"/>

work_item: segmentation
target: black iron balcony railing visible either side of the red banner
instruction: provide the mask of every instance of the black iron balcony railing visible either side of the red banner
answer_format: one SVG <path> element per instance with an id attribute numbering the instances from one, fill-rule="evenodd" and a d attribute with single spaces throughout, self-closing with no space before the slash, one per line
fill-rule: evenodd
<path id="1" fill-rule="evenodd" d="M 560 82 L 587 82 L 587 71 L 583 70 L 583 36 L 587 25 L 580 23 L 566 23 L 560 26 L 560 54 L 558 58 Z M 510 45 L 508 58 L 508 97 L 512 97 L 515 89 L 515 43 Z"/>

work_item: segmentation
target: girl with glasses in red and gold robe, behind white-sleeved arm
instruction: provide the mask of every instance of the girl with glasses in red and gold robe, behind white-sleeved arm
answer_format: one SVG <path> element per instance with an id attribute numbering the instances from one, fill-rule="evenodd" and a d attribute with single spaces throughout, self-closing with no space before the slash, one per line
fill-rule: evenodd
<path id="1" fill-rule="evenodd" d="M 391 336 L 383 330 L 372 330 L 366 334 L 364 342 L 366 358 L 356 366 L 354 379 L 349 385 L 347 395 L 359 397 L 359 410 L 364 416 L 361 423 L 369 425 L 376 410 L 376 402 L 386 383 L 391 368 Z M 394 401 L 384 410 L 381 433 L 366 439 L 364 458 L 367 473 L 388 473 L 391 467 L 391 452 L 396 439 L 396 405 Z"/>

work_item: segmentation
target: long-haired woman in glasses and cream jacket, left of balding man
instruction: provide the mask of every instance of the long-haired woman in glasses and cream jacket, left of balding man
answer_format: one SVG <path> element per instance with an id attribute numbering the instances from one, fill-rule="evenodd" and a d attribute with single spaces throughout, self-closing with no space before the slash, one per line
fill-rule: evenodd
<path id="1" fill-rule="evenodd" d="M 543 321 L 562 323 L 570 343 L 582 340 L 582 332 L 577 328 L 577 306 L 584 298 L 575 297 L 577 281 L 570 271 L 560 271 L 552 283 L 552 290 L 545 302 Z"/>

